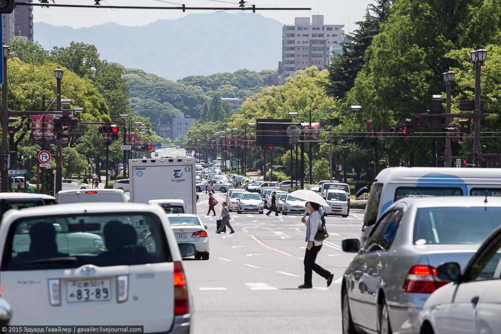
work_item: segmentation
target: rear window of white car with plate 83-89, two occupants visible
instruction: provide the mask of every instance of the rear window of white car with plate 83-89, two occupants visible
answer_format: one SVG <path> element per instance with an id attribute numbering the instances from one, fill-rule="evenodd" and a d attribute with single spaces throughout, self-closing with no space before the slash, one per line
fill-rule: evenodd
<path id="1" fill-rule="evenodd" d="M 172 261 L 152 213 L 67 214 L 13 222 L 1 270 L 43 270 Z"/>

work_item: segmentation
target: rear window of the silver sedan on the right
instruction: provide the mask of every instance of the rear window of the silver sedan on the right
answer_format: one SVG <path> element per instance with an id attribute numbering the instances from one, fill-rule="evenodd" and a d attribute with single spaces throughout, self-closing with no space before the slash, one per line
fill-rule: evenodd
<path id="1" fill-rule="evenodd" d="M 499 226 L 498 207 L 434 207 L 417 209 L 413 242 L 481 244 Z M 472 229 L 471 227 L 474 226 Z"/>

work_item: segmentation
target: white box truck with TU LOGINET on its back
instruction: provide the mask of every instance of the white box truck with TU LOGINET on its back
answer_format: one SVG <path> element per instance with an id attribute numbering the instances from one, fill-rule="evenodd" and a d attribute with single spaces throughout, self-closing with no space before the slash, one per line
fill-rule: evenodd
<path id="1" fill-rule="evenodd" d="M 182 199 L 196 214 L 195 159 L 130 159 L 130 202 Z"/>

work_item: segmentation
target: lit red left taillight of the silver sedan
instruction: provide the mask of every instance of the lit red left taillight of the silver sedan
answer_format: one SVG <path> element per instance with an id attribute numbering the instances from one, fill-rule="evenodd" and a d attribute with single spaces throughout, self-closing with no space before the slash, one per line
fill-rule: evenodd
<path id="1" fill-rule="evenodd" d="M 415 265 L 405 277 L 402 291 L 431 293 L 447 283 L 448 281 L 438 279 L 435 268 L 427 265 Z"/>

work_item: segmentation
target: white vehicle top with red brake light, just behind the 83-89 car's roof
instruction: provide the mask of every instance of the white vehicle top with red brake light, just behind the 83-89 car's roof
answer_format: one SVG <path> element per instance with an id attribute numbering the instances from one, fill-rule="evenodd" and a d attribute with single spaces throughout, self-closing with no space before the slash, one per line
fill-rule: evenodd
<path id="1" fill-rule="evenodd" d="M 83 202 L 126 202 L 123 190 L 118 189 L 62 190 L 56 195 L 56 200 L 59 204 Z"/>

